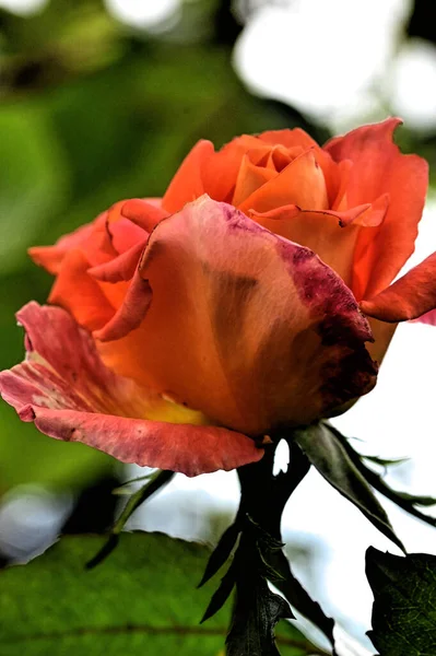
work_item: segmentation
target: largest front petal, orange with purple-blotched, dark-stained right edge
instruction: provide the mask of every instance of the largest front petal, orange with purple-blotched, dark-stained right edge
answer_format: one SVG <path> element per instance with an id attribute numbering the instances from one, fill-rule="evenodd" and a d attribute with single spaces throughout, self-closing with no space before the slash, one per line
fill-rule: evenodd
<path id="1" fill-rule="evenodd" d="M 203 197 L 162 221 L 140 272 L 150 308 L 139 329 L 104 344 L 105 359 L 214 423 L 262 435 L 375 384 L 370 330 L 346 285 L 229 204 Z"/>

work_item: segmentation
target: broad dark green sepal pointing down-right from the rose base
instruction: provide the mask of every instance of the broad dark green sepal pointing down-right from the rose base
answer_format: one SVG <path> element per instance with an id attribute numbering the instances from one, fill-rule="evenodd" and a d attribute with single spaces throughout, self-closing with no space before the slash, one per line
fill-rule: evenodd
<path id="1" fill-rule="evenodd" d="M 356 464 L 330 426 L 319 423 L 295 431 L 297 444 L 321 476 L 369 522 L 404 551 L 389 518 Z"/>

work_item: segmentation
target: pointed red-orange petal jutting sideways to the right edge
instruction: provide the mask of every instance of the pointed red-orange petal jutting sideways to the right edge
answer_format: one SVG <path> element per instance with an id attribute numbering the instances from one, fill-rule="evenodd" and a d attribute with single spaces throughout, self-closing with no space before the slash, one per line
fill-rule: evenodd
<path id="1" fill-rule="evenodd" d="M 389 323 L 417 319 L 435 309 L 436 253 L 373 298 L 362 301 L 361 307 L 368 316 Z"/>

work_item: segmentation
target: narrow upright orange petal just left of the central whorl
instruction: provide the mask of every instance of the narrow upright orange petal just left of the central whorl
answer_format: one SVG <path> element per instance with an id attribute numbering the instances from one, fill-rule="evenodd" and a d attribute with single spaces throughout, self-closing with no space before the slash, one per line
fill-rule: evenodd
<path id="1" fill-rule="evenodd" d="M 185 157 L 176 175 L 169 183 L 162 199 L 162 208 L 169 214 L 181 210 L 185 203 L 204 194 L 202 172 L 214 154 L 213 143 L 199 141 Z"/>

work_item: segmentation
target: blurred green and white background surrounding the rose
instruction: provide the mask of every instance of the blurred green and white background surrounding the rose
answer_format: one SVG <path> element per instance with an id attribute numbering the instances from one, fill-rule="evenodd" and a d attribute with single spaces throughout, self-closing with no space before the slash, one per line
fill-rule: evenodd
<path id="1" fill-rule="evenodd" d="M 303 127 L 319 142 L 399 115 L 397 141 L 436 183 L 432 0 L 0 0 L 0 368 L 23 355 L 14 313 L 50 277 L 26 248 L 51 244 L 113 202 L 160 196 L 200 139 Z M 431 189 L 410 267 L 436 250 Z M 357 448 L 409 460 L 389 482 L 436 494 L 435 328 L 401 326 L 375 391 L 337 421 Z M 141 473 L 141 472 L 140 472 Z M 60 530 L 104 530 L 111 490 L 139 476 L 21 423 L 0 405 L 0 558 L 23 561 Z M 236 476 L 182 476 L 131 527 L 213 542 L 233 517 Z M 387 504 L 386 504 L 387 505 Z M 175 507 L 177 511 L 175 512 Z M 387 506 L 410 551 L 436 531 Z M 369 543 L 396 552 L 316 472 L 285 511 L 295 571 L 366 654 Z"/>

